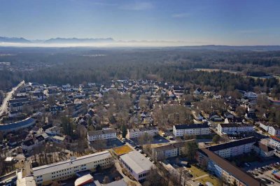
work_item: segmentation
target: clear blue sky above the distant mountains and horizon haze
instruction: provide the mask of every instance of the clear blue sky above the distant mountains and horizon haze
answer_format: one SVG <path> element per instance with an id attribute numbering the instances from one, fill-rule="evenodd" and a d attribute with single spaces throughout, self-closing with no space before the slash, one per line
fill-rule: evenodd
<path id="1" fill-rule="evenodd" d="M 0 0 L 0 36 L 280 45 L 280 1 Z"/>

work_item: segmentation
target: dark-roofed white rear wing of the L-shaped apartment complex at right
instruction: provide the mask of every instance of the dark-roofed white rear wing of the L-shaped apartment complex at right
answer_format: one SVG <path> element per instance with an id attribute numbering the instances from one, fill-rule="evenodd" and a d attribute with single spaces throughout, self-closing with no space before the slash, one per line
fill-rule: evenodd
<path id="1" fill-rule="evenodd" d="M 223 158 L 236 157 L 238 155 L 243 155 L 245 153 L 251 152 L 251 150 L 253 150 L 253 145 L 257 141 L 257 138 L 249 137 L 238 141 L 213 145 L 208 147 L 207 149 Z"/>

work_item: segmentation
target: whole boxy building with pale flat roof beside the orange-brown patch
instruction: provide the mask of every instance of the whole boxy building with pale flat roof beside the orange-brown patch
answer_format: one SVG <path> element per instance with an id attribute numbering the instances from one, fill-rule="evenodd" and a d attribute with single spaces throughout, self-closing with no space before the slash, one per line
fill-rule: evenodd
<path id="1" fill-rule="evenodd" d="M 120 162 L 125 166 L 136 180 L 144 180 L 148 176 L 149 171 L 153 167 L 153 163 L 150 162 L 144 155 L 138 151 L 128 152 L 125 155 L 120 156 Z"/>

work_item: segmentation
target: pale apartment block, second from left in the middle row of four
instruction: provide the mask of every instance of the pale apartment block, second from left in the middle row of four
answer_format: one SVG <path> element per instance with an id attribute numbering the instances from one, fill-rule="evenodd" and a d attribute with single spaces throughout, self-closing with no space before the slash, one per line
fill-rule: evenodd
<path id="1" fill-rule="evenodd" d="M 144 134 L 155 136 L 158 134 L 158 127 L 141 127 L 139 129 L 127 129 L 127 138 L 139 138 Z"/>

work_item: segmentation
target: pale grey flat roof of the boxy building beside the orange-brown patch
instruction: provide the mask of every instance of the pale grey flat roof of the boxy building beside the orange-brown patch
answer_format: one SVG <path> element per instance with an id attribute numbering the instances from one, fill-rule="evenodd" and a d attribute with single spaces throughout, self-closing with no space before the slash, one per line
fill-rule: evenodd
<path id="1" fill-rule="evenodd" d="M 120 159 L 125 162 L 130 169 L 132 169 L 135 173 L 142 173 L 144 171 L 149 171 L 153 166 L 153 163 L 150 162 L 144 155 L 141 155 L 140 152 L 132 151 L 128 152 L 125 155 L 121 155 Z"/>

